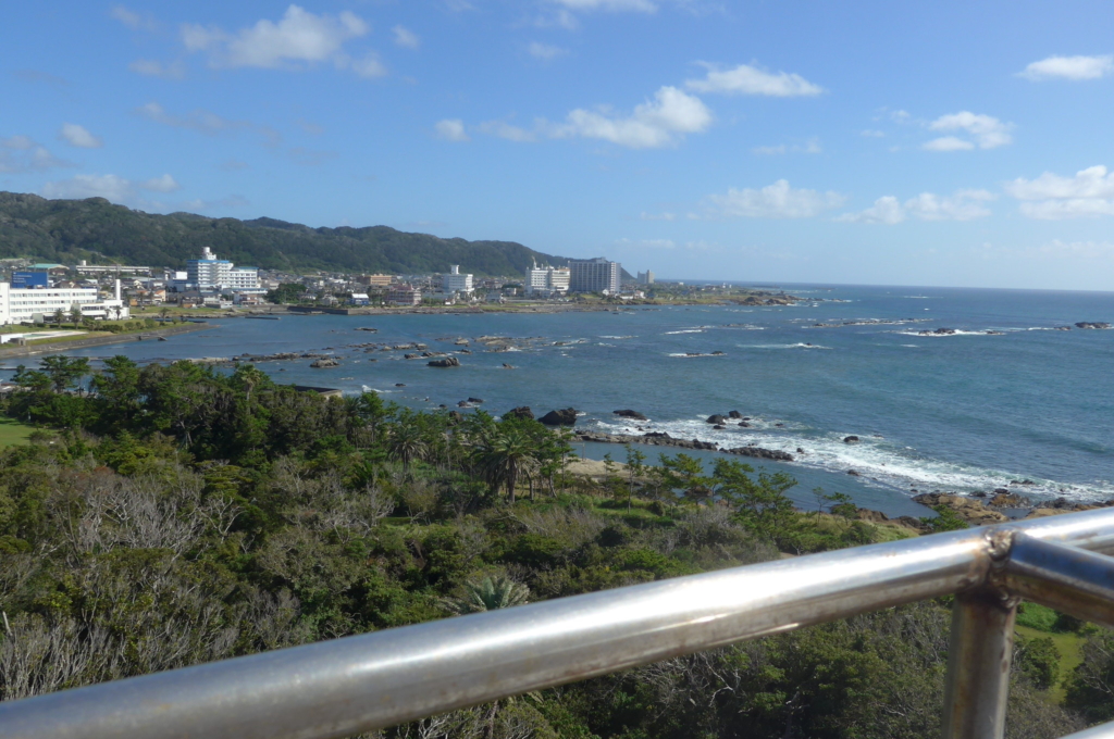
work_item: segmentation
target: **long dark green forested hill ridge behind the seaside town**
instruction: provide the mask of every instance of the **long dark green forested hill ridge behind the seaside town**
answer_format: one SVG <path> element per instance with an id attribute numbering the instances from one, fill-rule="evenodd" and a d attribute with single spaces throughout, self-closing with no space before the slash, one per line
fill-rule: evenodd
<path id="1" fill-rule="evenodd" d="M 450 264 L 459 264 L 462 272 L 478 275 L 520 275 L 535 259 L 555 266 L 567 262 L 515 242 L 439 238 L 387 226 L 310 228 L 273 218 L 163 216 L 104 198 L 48 200 L 0 191 L 0 258 L 184 268 L 203 246 L 236 264 L 291 272 L 420 274 L 448 272 Z"/>

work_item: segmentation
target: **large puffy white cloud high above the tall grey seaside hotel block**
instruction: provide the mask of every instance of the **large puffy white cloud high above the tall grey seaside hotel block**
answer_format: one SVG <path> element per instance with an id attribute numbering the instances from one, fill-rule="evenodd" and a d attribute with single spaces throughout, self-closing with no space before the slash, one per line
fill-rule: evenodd
<path id="1" fill-rule="evenodd" d="M 712 125 L 712 111 L 700 98 L 675 87 L 662 87 L 634 109 L 629 117 L 576 109 L 566 122 L 550 129 L 550 136 L 596 138 L 632 149 L 658 148 L 675 144 L 685 134 L 700 134 Z"/>

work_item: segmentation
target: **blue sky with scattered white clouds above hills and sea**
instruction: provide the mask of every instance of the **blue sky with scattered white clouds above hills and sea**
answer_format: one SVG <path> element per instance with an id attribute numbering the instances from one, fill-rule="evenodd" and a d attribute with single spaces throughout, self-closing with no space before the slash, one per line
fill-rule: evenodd
<path id="1" fill-rule="evenodd" d="M 10 3 L 0 189 L 739 280 L 1114 289 L 1105 2 Z"/>

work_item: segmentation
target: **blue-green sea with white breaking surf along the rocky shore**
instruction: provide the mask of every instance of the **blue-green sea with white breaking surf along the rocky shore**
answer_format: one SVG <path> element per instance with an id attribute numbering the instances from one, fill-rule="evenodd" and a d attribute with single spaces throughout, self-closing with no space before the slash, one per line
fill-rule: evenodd
<path id="1" fill-rule="evenodd" d="M 456 406 L 469 396 L 483 398 L 495 414 L 518 405 L 538 414 L 573 406 L 586 428 L 638 433 L 637 425 L 729 446 L 755 443 L 797 455 L 784 469 L 804 490 L 850 492 L 860 504 L 901 513 L 911 512 L 903 501 L 913 490 L 969 492 L 1023 480 L 1035 484 L 1013 487 L 1035 496 L 1114 497 L 1114 331 L 1054 329 L 1114 323 L 1114 294 L 784 287 L 810 300 L 618 313 L 228 319 L 168 342 L 80 354 L 175 359 L 328 351 L 340 367 L 311 370 L 311 359 L 260 366 L 282 382 L 374 388 L 416 407 Z M 918 333 L 941 327 L 957 333 Z M 403 352 L 351 346 L 422 342 L 452 351 L 452 339 L 482 335 L 529 341 L 506 353 L 483 352 L 472 341 L 475 353 L 451 370 L 403 359 Z M 716 351 L 724 354 L 685 356 Z M 651 421 L 616 418 L 617 408 Z M 715 431 L 704 421 L 732 410 L 752 417 L 752 427 Z M 852 434 L 860 443 L 844 444 Z M 622 449 L 614 452 L 622 457 Z"/>

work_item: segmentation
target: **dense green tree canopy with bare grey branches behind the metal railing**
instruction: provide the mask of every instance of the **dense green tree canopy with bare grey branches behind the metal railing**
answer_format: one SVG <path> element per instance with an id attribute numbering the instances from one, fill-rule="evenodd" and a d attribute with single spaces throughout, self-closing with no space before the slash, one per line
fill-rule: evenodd
<path id="1" fill-rule="evenodd" d="M 49 356 L 0 414 L 0 700 L 899 535 L 783 473 L 627 447 L 567 474 L 516 410 L 325 398 L 251 365 Z M 622 454 L 622 451 L 620 451 Z M 935 520 L 949 528 L 962 522 Z M 381 739 L 939 737 L 950 599 L 672 659 L 364 735 Z M 1039 608 L 1025 604 L 1027 609 Z M 1114 637 L 1018 637 L 1007 737 L 1114 718 Z"/>

